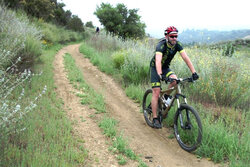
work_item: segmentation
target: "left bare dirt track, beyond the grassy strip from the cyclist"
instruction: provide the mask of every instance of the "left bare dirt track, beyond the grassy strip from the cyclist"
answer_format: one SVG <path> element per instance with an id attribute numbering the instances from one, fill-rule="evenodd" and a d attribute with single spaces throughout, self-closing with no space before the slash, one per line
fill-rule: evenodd
<path id="1" fill-rule="evenodd" d="M 64 69 L 63 55 L 71 53 L 72 46 L 60 50 L 54 60 L 54 80 L 56 92 L 64 102 L 64 110 L 73 125 L 73 133 L 84 141 L 84 148 L 88 151 L 88 157 L 84 167 L 117 167 L 119 166 L 114 154 L 108 151 L 107 138 L 102 134 L 95 118 L 90 117 L 94 110 L 81 105 L 80 98 L 75 94 L 75 90 L 67 79 Z M 127 167 L 137 166 L 135 162 L 128 162 Z"/>

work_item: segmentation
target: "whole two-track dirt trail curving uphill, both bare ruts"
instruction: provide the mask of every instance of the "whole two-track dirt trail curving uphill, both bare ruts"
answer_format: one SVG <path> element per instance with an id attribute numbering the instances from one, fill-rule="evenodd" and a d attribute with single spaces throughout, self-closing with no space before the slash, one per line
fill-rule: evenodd
<path id="1" fill-rule="evenodd" d="M 100 72 L 97 67 L 90 63 L 88 59 L 84 58 L 79 52 L 79 46 L 79 44 L 76 44 L 63 48 L 58 52 L 54 61 L 57 92 L 64 100 L 65 105 L 71 108 L 68 113 L 72 118 L 78 119 L 80 115 L 84 115 L 84 118 L 86 118 L 89 113 L 84 106 L 79 105 L 79 100 L 72 100 L 76 99 L 77 97 L 75 97 L 75 95 L 72 93 L 74 90 L 67 81 L 66 74 L 63 70 L 62 56 L 64 53 L 70 53 L 71 56 L 76 60 L 76 64 L 83 72 L 84 79 L 88 85 L 94 88 L 98 93 L 103 94 L 107 105 L 107 112 L 110 113 L 114 119 L 119 121 L 119 130 L 122 131 L 124 136 L 128 138 L 130 148 L 132 148 L 136 154 L 142 155 L 142 158 L 152 157 L 152 159 L 150 159 L 151 162 L 145 159 L 145 162 L 147 162 L 148 166 L 219 166 L 211 161 L 207 161 L 206 159 L 197 159 L 195 155 L 182 150 L 175 139 L 167 138 L 170 135 L 167 128 L 158 130 L 147 126 L 142 113 L 140 113 L 140 106 L 130 100 L 125 95 L 121 86 L 115 83 L 110 76 Z M 89 147 L 88 150 L 90 153 L 95 153 L 97 150 L 102 150 L 104 152 L 103 155 L 96 155 L 106 155 L 106 157 L 103 159 L 99 157 L 99 165 L 119 166 L 117 165 L 117 160 L 112 157 L 113 155 L 107 152 L 108 146 L 105 143 L 105 137 L 101 135 L 100 129 L 98 129 L 96 123 L 94 124 L 93 122 L 94 120 L 91 119 L 87 119 L 86 122 L 81 122 L 80 125 L 75 127 L 77 134 L 86 141 L 85 143 Z M 94 133 L 91 133 L 92 131 L 94 131 Z M 105 149 L 107 150 L 105 151 Z M 91 163 L 93 163 L 93 161 Z M 129 162 L 128 166 L 136 166 L 136 164 Z"/>

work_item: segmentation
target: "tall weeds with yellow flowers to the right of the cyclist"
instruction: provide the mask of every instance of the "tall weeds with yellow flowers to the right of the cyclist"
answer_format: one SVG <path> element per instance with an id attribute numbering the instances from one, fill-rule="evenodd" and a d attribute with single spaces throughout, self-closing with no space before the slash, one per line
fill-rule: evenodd
<path id="1" fill-rule="evenodd" d="M 200 79 L 190 85 L 185 93 L 200 102 L 215 103 L 248 109 L 250 105 L 249 60 L 236 53 L 235 57 L 221 56 L 221 50 L 209 48 L 186 48 Z M 237 57 L 236 57 L 237 56 Z M 180 76 L 190 76 L 190 71 L 180 56 L 176 55 L 171 69 Z"/>

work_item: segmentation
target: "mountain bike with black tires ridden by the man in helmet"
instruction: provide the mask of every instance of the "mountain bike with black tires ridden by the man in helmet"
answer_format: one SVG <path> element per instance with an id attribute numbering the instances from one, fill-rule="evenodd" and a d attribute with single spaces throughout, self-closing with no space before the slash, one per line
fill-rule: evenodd
<path id="1" fill-rule="evenodd" d="M 181 85 L 193 82 L 192 77 L 172 79 L 169 78 L 166 83 L 176 81 L 176 86 L 167 90 L 162 90 L 158 99 L 157 116 L 162 123 L 168 115 L 168 112 L 177 101 L 177 111 L 174 116 L 174 134 L 177 142 L 182 149 L 191 152 L 198 148 L 202 140 L 202 124 L 198 112 L 187 104 L 186 96 L 181 93 Z M 172 93 L 171 93 L 172 92 Z M 172 95 L 169 105 L 165 105 L 164 94 Z M 153 113 L 151 108 L 152 89 L 146 90 L 143 96 L 142 109 L 144 118 L 150 127 L 153 125 Z"/>

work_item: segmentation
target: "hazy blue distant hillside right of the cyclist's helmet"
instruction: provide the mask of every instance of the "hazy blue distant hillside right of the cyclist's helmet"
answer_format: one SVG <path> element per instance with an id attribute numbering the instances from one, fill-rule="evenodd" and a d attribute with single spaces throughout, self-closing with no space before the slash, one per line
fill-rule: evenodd
<path id="1" fill-rule="evenodd" d="M 210 44 L 221 41 L 231 41 L 243 39 L 250 35 L 250 30 L 233 31 L 208 31 L 208 30 L 185 30 L 179 35 L 179 40 L 183 44 Z"/>

